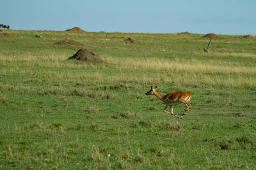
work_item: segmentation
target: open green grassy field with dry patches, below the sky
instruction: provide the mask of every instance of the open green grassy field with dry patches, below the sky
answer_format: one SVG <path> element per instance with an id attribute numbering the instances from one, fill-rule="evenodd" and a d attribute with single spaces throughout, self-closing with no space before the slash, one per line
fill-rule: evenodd
<path id="1" fill-rule="evenodd" d="M 256 169 L 256 39 L 2 32 L 0 169 Z M 81 48 L 104 62 L 67 60 Z M 164 113 L 151 85 L 191 110 Z"/>

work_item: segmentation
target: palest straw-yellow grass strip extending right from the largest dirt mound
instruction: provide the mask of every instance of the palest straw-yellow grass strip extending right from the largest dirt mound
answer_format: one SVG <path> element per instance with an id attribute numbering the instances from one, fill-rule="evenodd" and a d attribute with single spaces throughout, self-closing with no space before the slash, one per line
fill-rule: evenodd
<path id="1" fill-rule="evenodd" d="M 211 73 L 256 73 L 256 67 L 236 66 L 232 62 L 221 60 L 185 60 L 185 59 L 134 59 L 108 57 L 108 62 L 120 65 L 122 68 L 166 70 L 166 71 L 188 71 L 188 72 L 211 72 Z"/>

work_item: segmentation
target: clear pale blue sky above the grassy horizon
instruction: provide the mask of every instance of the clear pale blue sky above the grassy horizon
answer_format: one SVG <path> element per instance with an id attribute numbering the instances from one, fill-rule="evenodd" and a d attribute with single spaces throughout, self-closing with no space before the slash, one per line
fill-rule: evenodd
<path id="1" fill-rule="evenodd" d="M 3 0 L 11 29 L 256 35 L 255 0 Z"/>

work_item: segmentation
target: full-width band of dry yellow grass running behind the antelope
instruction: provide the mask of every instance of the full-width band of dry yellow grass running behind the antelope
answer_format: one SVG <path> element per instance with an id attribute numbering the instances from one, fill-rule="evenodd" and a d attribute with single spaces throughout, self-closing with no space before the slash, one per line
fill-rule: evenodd
<path id="1" fill-rule="evenodd" d="M 237 54 L 238 55 L 238 54 Z M 253 54 L 243 54 L 244 57 L 253 57 Z M 2 74 L 17 74 L 17 76 L 33 75 L 38 79 L 47 79 L 50 81 L 88 81 L 97 80 L 99 83 L 109 81 L 138 81 L 138 82 L 156 82 L 156 83 L 175 83 L 177 85 L 223 85 L 227 87 L 252 86 L 255 83 L 253 75 L 256 74 L 256 67 L 244 66 L 232 61 L 223 60 L 200 60 L 200 59 L 181 59 L 181 58 L 148 58 L 136 59 L 134 57 L 118 58 L 104 57 L 104 60 L 113 64 L 115 71 L 90 71 L 86 72 L 88 67 L 97 70 L 102 65 L 88 65 L 86 62 L 70 62 L 63 55 L 48 55 L 35 57 L 33 55 L 21 55 L 19 57 L 4 58 L 3 66 L 10 66 L 7 69 L 1 69 Z M 26 61 L 26 62 L 17 62 Z M 6 63 L 6 64 L 4 64 Z M 24 67 L 28 66 L 28 67 Z M 70 67 L 74 71 L 55 71 L 52 69 L 43 70 L 36 74 L 29 67 Z M 76 69 L 82 69 L 76 71 Z M 84 69 L 84 71 L 83 71 Z M 127 70 L 129 70 L 127 72 Z M 139 74 L 138 74 L 139 73 Z"/>

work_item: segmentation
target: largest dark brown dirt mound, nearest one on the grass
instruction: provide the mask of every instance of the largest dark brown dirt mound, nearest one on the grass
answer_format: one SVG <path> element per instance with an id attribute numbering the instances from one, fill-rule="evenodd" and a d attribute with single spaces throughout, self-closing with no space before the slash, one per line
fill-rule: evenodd
<path id="1" fill-rule="evenodd" d="M 90 50 L 81 49 L 78 50 L 75 55 L 72 57 L 69 57 L 69 59 L 76 59 L 76 60 L 86 60 L 86 61 L 103 61 L 99 55 L 96 55 L 95 53 L 91 52 Z"/>

